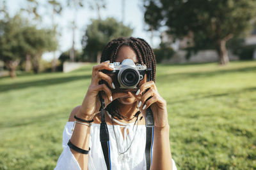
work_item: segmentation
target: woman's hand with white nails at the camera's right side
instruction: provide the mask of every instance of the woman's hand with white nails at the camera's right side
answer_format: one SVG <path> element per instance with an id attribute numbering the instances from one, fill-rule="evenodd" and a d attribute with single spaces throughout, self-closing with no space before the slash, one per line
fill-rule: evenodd
<path id="1" fill-rule="evenodd" d="M 133 94 L 133 96 L 136 97 L 138 107 L 144 118 L 146 115 L 146 110 L 150 106 L 154 115 L 155 127 L 165 127 L 168 125 L 166 101 L 157 92 L 156 84 L 154 81 L 148 81 L 141 84 L 138 91 L 136 94 Z M 149 97 L 150 99 L 148 99 Z"/>

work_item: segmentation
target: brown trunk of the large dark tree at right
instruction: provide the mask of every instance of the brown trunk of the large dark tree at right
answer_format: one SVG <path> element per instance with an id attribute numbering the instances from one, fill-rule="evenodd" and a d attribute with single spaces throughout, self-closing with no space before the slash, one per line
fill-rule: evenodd
<path id="1" fill-rule="evenodd" d="M 217 41 L 217 44 L 216 44 L 216 49 L 219 55 L 219 64 L 222 66 L 228 64 L 229 62 L 226 43 L 227 43 L 226 40 L 221 39 Z"/>

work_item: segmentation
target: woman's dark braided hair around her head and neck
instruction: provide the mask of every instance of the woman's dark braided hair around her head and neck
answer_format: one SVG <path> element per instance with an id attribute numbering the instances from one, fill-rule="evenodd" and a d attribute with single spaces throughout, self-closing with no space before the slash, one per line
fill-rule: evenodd
<path id="1" fill-rule="evenodd" d="M 155 81 L 156 57 L 152 48 L 144 39 L 133 37 L 113 39 L 105 46 L 104 50 L 102 51 L 100 62 L 104 62 L 106 60 L 109 60 L 110 62 L 115 62 L 118 50 L 123 45 L 131 46 L 131 48 L 136 52 L 140 64 L 145 64 L 147 68 L 151 68 L 151 73 L 149 74 L 150 80 Z M 118 100 L 113 101 L 106 107 L 106 110 L 112 117 L 122 120 L 125 117 L 120 114 L 118 110 L 118 103 Z M 138 111 L 134 115 L 134 117 L 138 117 L 139 115 L 140 111 Z"/>

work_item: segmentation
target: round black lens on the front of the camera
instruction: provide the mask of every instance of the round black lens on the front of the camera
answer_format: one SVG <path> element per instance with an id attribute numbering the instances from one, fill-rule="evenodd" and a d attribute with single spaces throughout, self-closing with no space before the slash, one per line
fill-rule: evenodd
<path id="1" fill-rule="evenodd" d="M 134 69 L 129 68 L 123 71 L 120 80 L 122 81 L 122 84 L 125 87 L 129 88 L 134 87 L 134 85 L 137 85 L 138 81 L 140 80 L 140 77 Z"/>

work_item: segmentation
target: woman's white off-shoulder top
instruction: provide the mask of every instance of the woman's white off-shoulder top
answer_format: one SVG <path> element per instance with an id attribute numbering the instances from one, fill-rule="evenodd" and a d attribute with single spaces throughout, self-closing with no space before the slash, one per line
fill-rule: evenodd
<path id="1" fill-rule="evenodd" d="M 74 155 L 67 146 L 68 140 L 72 136 L 72 128 L 74 122 L 67 122 L 63 131 L 63 152 L 61 153 L 56 170 L 63 169 L 81 169 Z M 137 127 L 138 126 L 138 127 Z M 124 137 L 120 127 L 124 127 Z M 111 169 L 112 170 L 144 170 L 146 168 L 145 158 L 145 143 L 146 143 L 146 127 L 145 125 L 128 124 L 123 125 L 108 125 L 109 131 L 109 144 L 110 144 L 110 155 L 111 155 Z M 138 128 L 138 129 L 136 129 Z M 129 133 L 127 133 L 127 130 Z M 134 136 L 135 135 L 135 136 Z M 116 138 L 115 138 L 116 136 Z M 88 157 L 88 169 L 89 170 L 102 170 L 107 169 L 104 160 L 100 144 L 100 124 L 92 124 L 90 130 L 90 152 Z M 134 139 L 131 145 L 131 141 Z M 117 145 L 118 144 L 118 148 Z M 124 152 L 131 145 L 129 150 L 120 156 L 119 152 Z M 175 162 L 173 160 L 173 170 L 176 170 Z"/>

